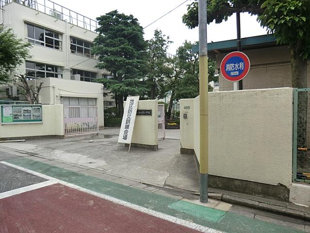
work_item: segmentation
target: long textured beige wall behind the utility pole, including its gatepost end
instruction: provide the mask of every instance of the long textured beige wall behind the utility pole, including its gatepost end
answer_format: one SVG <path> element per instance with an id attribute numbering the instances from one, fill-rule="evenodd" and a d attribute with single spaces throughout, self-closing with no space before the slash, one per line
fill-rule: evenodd
<path id="1" fill-rule="evenodd" d="M 292 88 L 209 93 L 209 174 L 289 186 L 292 99 Z M 194 145 L 188 149 L 195 150 L 199 161 L 199 98 L 188 101 L 181 100 L 180 116 L 186 103 L 194 117 L 181 117 L 181 145 Z M 186 136 L 192 124 L 194 136 Z"/>

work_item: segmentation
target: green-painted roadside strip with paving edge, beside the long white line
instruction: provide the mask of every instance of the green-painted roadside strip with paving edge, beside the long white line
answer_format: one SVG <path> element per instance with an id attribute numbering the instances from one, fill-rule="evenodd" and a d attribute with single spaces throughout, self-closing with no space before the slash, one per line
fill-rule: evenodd
<path id="1" fill-rule="evenodd" d="M 39 162 L 40 161 L 40 162 Z M 78 185 L 81 188 L 95 192 L 98 195 L 108 195 L 110 198 L 123 200 L 156 213 L 162 213 L 192 222 L 203 227 L 216 229 L 227 233 L 298 233 L 309 232 L 307 222 L 280 217 L 272 217 L 262 211 L 247 210 L 223 201 L 210 199 L 207 206 L 201 205 L 194 196 L 171 190 L 156 189 L 149 185 L 141 185 L 138 181 L 128 180 L 124 177 L 112 177 L 103 172 L 87 169 L 85 167 L 71 166 L 53 160 L 46 160 L 34 156 L 9 159 L 6 161 L 12 166 L 24 170 L 59 179 L 65 183 Z M 49 164 L 48 164 L 49 163 Z M 53 165 L 50 165 L 53 164 Z M 66 168 L 62 168 L 67 166 Z M 80 169 L 80 171 L 72 171 Z M 99 178 L 101 177 L 101 178 Z M 102 178 L 106 179 L 102 179 Z M 110 179 L 108 181 L 108 179 Z M 124 185 L 125 183 L 125 185 Z"/>

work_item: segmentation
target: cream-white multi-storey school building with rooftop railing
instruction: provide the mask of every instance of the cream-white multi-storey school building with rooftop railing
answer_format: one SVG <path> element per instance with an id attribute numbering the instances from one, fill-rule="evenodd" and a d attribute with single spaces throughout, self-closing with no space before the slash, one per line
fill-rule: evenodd
<path id="1" fill-rule="evenodd" d="M 97 22 L 49 0 L 0 0 L 0 5 L 0 24 L 32 45 L 32 57 L 16 73 L 37 83 L 44 81 L 39 101 L 64 106 L 95 103 L 99 127 L 103 126 L 104 90 L 100 83 L 89 83 L 109 74 L 94 68 Z M 0 89 L 0 99 L 8 94 L 18 98 L 18 88 Z"/>

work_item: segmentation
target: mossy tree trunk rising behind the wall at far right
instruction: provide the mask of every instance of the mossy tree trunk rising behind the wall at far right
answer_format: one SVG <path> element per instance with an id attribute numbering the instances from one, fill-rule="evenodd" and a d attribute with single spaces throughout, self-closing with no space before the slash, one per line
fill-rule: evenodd
<path id="1" fill-rule="evenodd" d="M 297 45 L 290 45 L 292 55 L 292 87 L 307 88 L 307 59 L 300 57 L 302 42 L 299 40 Z"/>

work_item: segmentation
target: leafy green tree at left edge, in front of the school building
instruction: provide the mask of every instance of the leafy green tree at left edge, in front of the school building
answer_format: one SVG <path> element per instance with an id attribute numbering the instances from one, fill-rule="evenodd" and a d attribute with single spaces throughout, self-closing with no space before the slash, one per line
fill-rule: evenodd
<path id="1" fill-rule="evenodd" d="M 12 29 L 0 25 L 0 84 L 11 83 L 16 67 L 30 58 L 31 45 L 18 39 Z"/>

